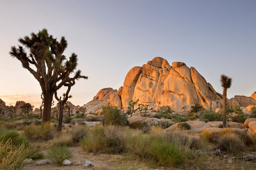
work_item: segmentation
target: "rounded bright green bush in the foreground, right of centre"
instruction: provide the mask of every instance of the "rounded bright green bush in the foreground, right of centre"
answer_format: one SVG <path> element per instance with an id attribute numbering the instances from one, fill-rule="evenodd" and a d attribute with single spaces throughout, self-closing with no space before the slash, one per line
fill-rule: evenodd
<path id="1" fill-rule="evenodd" d="M 151 139 L 147 152 L 148 159 L 165 166 L 178 165 L 185 158 L 184 153 L 177 145 L 159 138 Z"/>

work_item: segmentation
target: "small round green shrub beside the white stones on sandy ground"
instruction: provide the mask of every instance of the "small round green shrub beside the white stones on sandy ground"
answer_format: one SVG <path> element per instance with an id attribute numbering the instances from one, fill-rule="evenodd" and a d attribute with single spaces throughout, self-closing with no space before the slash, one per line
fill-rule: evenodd
<path id="1" fill-rule="evenodd" d="M 72 152 L 66 146 L 53 146 L 49 148 L 47 157 L 56 165 L 61 166 L 64 159 L 72 158 Z"/>

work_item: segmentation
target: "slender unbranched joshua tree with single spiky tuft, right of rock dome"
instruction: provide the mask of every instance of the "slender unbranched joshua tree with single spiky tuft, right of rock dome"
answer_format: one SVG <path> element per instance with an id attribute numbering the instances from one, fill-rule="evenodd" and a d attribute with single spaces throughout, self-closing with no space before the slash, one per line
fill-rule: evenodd
<path id="1" fill-rule="evenodd" d="M 223 88 L 223 104 L 222 104 L 222 113 L 223 113 L 223 128 L 226 127 L 227 123 L 227 89 L 232 85 L 232 78 L 227 75 L 222 74 L 220 77 L 221 86 Z"/>

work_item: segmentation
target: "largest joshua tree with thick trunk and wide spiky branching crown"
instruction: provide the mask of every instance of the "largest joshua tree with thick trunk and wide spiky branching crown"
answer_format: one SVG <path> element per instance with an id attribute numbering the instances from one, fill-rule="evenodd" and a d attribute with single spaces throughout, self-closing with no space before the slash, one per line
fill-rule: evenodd
<path id="1" fill-rule="evenodd" d="M 57 41 L 44 28 L 38 33 L 31 32 L 30 36 L 19 38 L 18 41 L 21 46 L 11 46 L 9 54 L 17 58 L 39 82 L 44 96 L 42 121 L 48 122 L 54 92 L 62 86 L 68 86 L 69 82 L 88 77 L 81 75 L 81 70 L 75 72 L 78 65 L 75 53 L 69 59 L 63 55 L 68 45 L 64 36 Z M 72 73 L 74 74 L 70 77 Z"/>

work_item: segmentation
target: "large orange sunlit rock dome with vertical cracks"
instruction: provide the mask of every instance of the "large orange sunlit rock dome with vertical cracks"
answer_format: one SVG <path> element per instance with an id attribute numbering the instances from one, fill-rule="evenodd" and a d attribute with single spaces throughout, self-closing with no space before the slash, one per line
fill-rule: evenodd
<path id="1" fill-rule="evenodd" d="M 182 62 L 172 66 L 161 57 L 155 57 L 142 67 L 133 67 L 125 77 L 122 108 L 128 101 L 156 106 L 170 106 L 178 113 L 188 113 L 198 103 L 207 110 L 221 108 L 222 98 L 198 71 Z"/>

